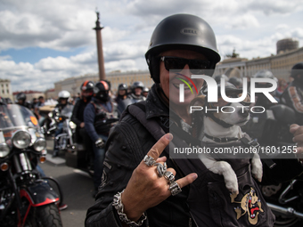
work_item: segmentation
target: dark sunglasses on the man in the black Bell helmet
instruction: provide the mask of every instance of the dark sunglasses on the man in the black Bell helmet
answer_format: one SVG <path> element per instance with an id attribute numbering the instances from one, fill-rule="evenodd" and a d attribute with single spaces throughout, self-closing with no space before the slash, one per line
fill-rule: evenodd
<path id="1" fill-rule="evenodd" d="M 178 57 L 169 57 L 169 56 L 161 56 L 160 61 L 164 62 L 165 69 L 176 70 L 176 72 L 180 72 L 184 69 L 185 65 L 189 66 L 192 74 L 203 74 L 205 69 L 210 68 L 210 62 L 199 59 L 184 59 Z"/>

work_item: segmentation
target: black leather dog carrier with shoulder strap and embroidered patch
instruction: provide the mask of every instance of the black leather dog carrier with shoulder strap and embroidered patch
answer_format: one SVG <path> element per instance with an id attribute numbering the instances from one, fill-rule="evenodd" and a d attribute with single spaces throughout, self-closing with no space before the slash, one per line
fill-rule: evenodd
<path id="1" fill-rule="evenodd" d="M 173 141 L 165 149 L 166 153 L 174 152 L 175 148 L 189 147 L 189 142 L 178 137 L 178 133 L 171 131 L 169 127 L 149 124 L 149 121 L 144 118 L 145 114 L 140 113 L 139 108 L 132 107 L 128 110 L 156 140 L 159 140 L 160 136 L 165 133 L 174 134 Z M 239 142 L 236 142 L 236 145 L 239 146 Z M 210 146 L 210 144 L 206 146 Z M 197 180 L 187 186 L 189 188 L 187 204 L 197 226 L 263 227 L 274 225 L 274 214 L 267 207 L 257 182 L 251 176 L 250 158 L 230 158 L 228 160 L 236 170 L 235 174 L 239 184 L 239 194 L 236 197 L 233 197 L 226 189 L 223 176 L 210 172 L 200 158 L 188 158 L 184 154 L 184 157 L 174 158 L 174 162 L 183 176 L 191 173 L 198 174 Z"/>

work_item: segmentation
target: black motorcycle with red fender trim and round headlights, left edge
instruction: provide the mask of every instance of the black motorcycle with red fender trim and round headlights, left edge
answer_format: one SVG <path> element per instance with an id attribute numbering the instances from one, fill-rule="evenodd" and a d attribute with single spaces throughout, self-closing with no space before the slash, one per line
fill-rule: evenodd
<path id="1" fill-rule="evenodd" d="M 37 171 L 45 147 L 29 109 L 0 104 L 0 226 L 62 226 L 61 198 Z"/>

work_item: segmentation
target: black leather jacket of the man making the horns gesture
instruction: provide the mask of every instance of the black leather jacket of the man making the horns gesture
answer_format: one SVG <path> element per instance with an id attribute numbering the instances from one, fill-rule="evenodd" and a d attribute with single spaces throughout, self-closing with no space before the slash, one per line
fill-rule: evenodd
<path id="1" fill-rule="evenodd" d="M 146 118 L 168 117 L 168 108 L 159 100 L 158 95 L 149 97 L 146 104 Z M 111 205 L 113 196 L 127 187 L 127 182 L 135 167 L 143 160 L 155 142 L 156 140 L 144 126 L 131 115 L 126 115 L 112 129 L 106 143 L 107 151 L 99 193 L 94 206 L 87 211 L 87 227 L 122 226 L 115 208 Z M 164 155 L 168 156 L 167 153 Z M 169 159 L 167 164 L 168 167 L 174 167 Z M 177 173 L 176 179 L 180 177 L 180 173 Z M 145 222 L 143 226 L 190 226 L 192 219 L 186 205 L 186 192 L 188 193 L 188 189 L 183 189 L 183 192 L 175 197 L 169 197 L 160 205 L 147 210 L 148 223 Z"/>

